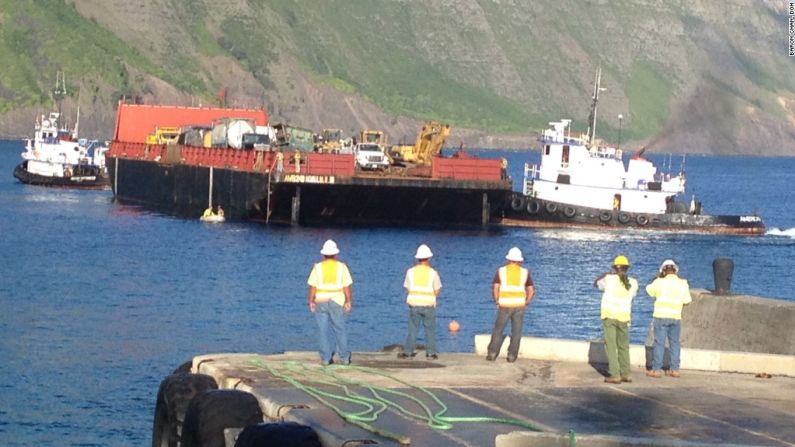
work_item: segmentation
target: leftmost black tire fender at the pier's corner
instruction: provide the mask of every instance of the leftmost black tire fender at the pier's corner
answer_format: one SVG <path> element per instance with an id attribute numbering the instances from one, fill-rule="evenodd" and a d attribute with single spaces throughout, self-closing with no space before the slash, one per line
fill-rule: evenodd
<path id="1" fill-rule="evenodd" d="M 215 379 L 205 374 L 183 372 L 163 379 L 157 391 L 152 447 L 177 447 L 191 400 L 201 393 L 215 389 L 218 389 Z"/>

